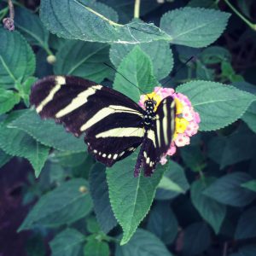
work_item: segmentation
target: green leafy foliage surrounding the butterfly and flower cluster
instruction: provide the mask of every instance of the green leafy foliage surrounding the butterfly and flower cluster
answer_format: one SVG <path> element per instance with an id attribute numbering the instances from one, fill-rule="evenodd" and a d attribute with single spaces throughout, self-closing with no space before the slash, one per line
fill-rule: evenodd
<path id="1" fill-rule="evenodd" d="M 14 1 L 15 32 L 0 27 L 0 181 L 13 157 L 34 169 L 21 174 L 26 254 L 255 256 L 255 29 L 230 18 L 226 1 L 141 0 L 140 19 L 133 0 L 26 2 Z M 230 2 L 255 20 L 253 1 Z M 8 12 L 3 1 L 1 22 Z M 83 136 L 30 109 L 32 84 L 52 74 L 135 102 L 172 87 L 200 113 L 200 132 L 152 177 L 133 177 L 138 151 L 106 168 Z"/>

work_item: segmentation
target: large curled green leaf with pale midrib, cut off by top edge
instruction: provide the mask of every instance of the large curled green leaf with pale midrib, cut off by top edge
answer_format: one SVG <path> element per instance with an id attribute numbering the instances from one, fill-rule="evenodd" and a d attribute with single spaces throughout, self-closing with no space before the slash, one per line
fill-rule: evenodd
<path id="1" fill-rule="evenodd" d="M 102 9 L 97 11 L 95 6 L 90 8 L 76 0 L 66 0 L 61 5 L 55 0 L 43 0 L 40 18 L 50 32 L 61 38 L 118 44 L 170 40 L 169 35 L 153 24 L 134 21 L 121 25 L 104 16 Z"/>

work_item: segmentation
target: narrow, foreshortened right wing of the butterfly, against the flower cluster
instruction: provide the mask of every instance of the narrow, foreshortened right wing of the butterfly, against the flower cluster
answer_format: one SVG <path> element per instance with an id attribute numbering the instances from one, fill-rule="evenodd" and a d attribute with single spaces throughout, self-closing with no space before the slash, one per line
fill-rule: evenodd
<path id="1" fill-rule="evenodd" d="M 152 129 L 148 130 L 143 139 L 134 175 L 137 177 L 141 167 L 145 176 L 151 176 L 156 164 L 172 143 L 175 131 L 175 102 L 171 96 L 160 102 L 155 113 Z"/>

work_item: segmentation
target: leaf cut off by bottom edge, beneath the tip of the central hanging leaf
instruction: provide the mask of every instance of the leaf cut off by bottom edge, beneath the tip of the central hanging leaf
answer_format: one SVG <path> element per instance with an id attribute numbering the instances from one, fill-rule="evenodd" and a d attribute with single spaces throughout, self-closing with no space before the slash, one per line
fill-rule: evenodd
<path id="1" fill-rule="evenodd" d="M 172 256 L 164 243 L 152 233 L 138 229 L 131 240 L 125 246 L 117 245 L 115 256 L 148 256 L 161 255 Z"/>

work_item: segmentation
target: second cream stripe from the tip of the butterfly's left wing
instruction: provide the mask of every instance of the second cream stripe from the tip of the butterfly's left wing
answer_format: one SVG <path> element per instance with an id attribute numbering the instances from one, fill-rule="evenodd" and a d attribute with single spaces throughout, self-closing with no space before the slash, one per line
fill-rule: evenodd
<path id="1" fill-rule="evenodd" d="M 76 96 L 71 103 L 69 103 L 65 108 L 62 108 L 58 113 L 55 114 L 55 118 L 59 119 L 66 115 L 67 113 L 73 112 L 73 110 L 81 107 L 87 102 L 89 96 L 94 95 L 96 90 L 101 90 L 102 85 L 93 85 L 89 87 L 87 90 L 84 90 Z"/>

